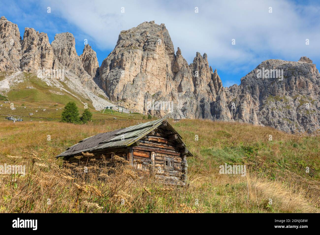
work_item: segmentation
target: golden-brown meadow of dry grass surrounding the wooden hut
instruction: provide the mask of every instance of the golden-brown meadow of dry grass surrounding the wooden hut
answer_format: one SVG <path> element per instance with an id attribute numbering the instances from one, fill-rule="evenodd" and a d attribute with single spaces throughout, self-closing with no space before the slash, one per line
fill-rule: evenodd
<path id="1" fill-rule="evenodd" d="M 111 169 L 111 177 L 103 174 L 110 169 L 97 173 L 95 166 L 84 174 L 83 168 L 55 159 L 85 137 L 147 121 L 139 114 L 119 115 L 88 125 L 1 122 L 0 162 L 26 164 L 28 174 L 0 176 L 0 212 L 319 212 L 319 135 L 294 136 L 239 123 L 170 121 L 194 154 L 188 158 L 188 187 L 137 179 L 129 166 Z M 246 165 L 246 176 L 219 174 L 225 163 Z"/>

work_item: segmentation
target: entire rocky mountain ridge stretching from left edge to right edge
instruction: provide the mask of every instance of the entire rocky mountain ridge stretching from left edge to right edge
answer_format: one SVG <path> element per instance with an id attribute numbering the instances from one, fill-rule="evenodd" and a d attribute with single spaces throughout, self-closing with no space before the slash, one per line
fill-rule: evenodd
<path id="1" fill-rule="evenodd" d="M 307 57 L 263 61 L 240 85 L 223 87 L 206 53 L 196 52 L 188 64 L 179 47 L 174 51 L 164 24 L 146 21 L 122 30 L 99 67 L 89 45 L 76 54 L 71 33 L 57 34 L 50 44 L 46 34 L 26 28 L 18 41 L 18 26 L 8 22 L 1 17 L 0 71 L 64 68 L 94 94 L 142 114 L 238 121 L 291 133 L 320 128 L 320 74 Z M 261 71 L 266 77 L 259 77 Z"/>

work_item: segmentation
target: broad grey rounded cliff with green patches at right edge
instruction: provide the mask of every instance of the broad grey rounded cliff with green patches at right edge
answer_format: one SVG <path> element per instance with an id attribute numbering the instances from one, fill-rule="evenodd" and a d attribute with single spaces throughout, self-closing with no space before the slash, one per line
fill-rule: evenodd
<path id="1" fill-rule="evenodd" d="M 259 70 L 278 70 L 283 77 L 257 76 Z M 270 73 L 271 75 L 271 73 Z M 272 126 L 287 132 L 313 132 L 320 128 L 320 74 L 307 57 L 298 62 L 263 61 L 241 79 L 230 102 L 235 121 Z"/>

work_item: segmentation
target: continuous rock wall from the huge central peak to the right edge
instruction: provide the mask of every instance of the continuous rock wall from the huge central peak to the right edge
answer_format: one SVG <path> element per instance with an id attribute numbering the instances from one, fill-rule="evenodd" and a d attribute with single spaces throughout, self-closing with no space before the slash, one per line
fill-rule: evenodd
<path id="1" fill-rule="evenodd" d="M 260 78 L 258 69 L 283 71 L 283 79 Z M 180 48 L 174 53 L 164 24 L 154 21 L 121 31 L 100 67 L 100 82 L 109 98 L 135 112 L 239 121 L 292 133 L 320 128 L 319 77 L 307 57 L 298 62 L 271 59 L 244 76 L 239 86 L 225 88 L 205 53 L 197 52 L 188 65 Z M 157 102 L 173 107 L 162 110 Z"/>

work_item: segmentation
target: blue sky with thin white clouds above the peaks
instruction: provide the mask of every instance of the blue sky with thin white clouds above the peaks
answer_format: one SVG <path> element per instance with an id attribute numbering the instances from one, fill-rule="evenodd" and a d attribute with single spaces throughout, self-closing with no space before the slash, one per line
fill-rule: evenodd
<path id="1" fill-rule="evenodd" d="M 317 1 L 0 0 L 0 4 L 0 15 L 18 24 L 21 36 L 25 27 L 47 33 L 50 42 L 56 33 L 70 32 L 78 55 L 87 39 L 100 65 L 121 30 L 151 20 L 165 24 L 175 50 L 180 47 L 188 63 L 197 51 L 207 53 L 224 86 L 240 84 L 241 77 L 266 59 L 297 61 L 307 56 L 315 64 L 320 61 Z"/>

